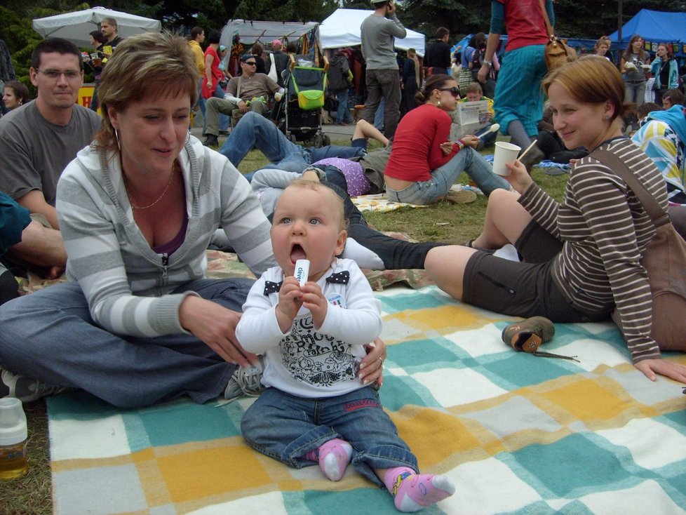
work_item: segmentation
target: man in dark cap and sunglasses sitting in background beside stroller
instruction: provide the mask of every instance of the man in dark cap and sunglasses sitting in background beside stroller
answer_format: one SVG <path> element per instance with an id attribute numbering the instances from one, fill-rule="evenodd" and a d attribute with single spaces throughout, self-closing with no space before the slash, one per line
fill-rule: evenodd
<path id="1" fill-rule="evenodd" d="M 268 75 L 255 72 L 257 60 L 254 55 L 241 57 L 243 74 L 229 81 L 227 94 L 224 98 L 208 98 L 206 102 L 207 138 L 203 145 L 216 147 L 219 145 L 219 113 L 229 114 L 238 119 L 248 111 L 266 115 L 269 112 L 267 100 L 274 97 L 278 102 L 283 96 L 283 88 Z"/>

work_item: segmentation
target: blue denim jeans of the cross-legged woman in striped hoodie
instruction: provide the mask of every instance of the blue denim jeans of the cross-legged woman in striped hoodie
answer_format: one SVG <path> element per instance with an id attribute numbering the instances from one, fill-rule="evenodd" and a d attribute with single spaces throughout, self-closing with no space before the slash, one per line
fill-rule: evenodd
<path id="1" fill-rule="evenodd" d="M 250 279 L 199 279 L 194 291 L 241 312 Z M 188 395 L 202 403 L 222 394 L 236 366 L 194 335 L 115 335 L 97 326 L 78 283 L 60 283 L 0 307 L 0 363 L 45 384 L 86 390 L 135 408 Z"/>

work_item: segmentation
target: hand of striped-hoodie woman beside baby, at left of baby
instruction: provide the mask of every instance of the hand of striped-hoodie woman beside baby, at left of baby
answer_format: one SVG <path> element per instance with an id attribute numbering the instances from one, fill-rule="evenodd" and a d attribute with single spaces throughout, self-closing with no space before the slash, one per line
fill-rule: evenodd
<path id="1" fill-rule="evenodd" d="M 240 366 L 256 364 L 257 356 L 243 350 L 236 340 L 236 325 L 240 319 L 240 313 L 194 295 L 188 295 L 179 308 L 181 326 L 222 356 L 224 361 Z"/>

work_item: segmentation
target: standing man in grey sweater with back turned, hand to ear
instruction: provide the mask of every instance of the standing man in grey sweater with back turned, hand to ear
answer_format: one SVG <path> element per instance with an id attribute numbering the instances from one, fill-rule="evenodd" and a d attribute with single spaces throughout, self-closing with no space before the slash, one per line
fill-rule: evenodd
<path id="1" fill-rule="evenodd" d="M 393 138 L 400 119 L 401 86 L 394 49 L 396 37 L 408 32 L 396 16 L 393 0 L 372 0 L 374 13 L 362 22 L 362 55 L 367 62 L 367 102 L 362 118 L 374 123 L 381 99 L 385 99 L 384 136 Z"/>

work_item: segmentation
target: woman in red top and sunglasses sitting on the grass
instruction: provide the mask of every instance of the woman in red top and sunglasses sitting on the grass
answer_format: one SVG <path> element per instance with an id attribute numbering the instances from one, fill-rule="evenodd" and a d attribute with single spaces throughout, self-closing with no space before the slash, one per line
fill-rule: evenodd
<path id="1" fill-rule="evenodd" d="M 415 99 L 422 105 L 398 123 L 384 169 L 389 200 L 421 206 L 436 203 L 445 199 L 463 170 L 487 195 L 494 189 L 509 189 L 508 182 L 492 173 L 490 164 L 476 152 L 478 137 L 450 141 L 452 121 L 448 112 L 459 100 L 455 80 L 448 75 L 432 75 Z M 447 200 L 451 201 L 450 196 Z"/>

